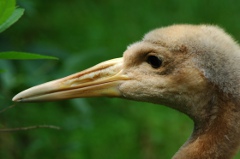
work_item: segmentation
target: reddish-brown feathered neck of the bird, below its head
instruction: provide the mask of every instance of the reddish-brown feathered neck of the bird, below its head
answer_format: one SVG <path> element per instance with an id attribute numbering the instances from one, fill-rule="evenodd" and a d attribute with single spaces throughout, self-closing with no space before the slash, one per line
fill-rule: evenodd
<path id="1" fill-rule="evenodd" d="M 228 99 L 227 99 L 228 98 Z M 238 150 L 240 140 L 240 104 L 230 97 L 218 98 L 205 108 L 207 115 L 194 121 L 189 140 L 173 159 L 230 159 Z"/>

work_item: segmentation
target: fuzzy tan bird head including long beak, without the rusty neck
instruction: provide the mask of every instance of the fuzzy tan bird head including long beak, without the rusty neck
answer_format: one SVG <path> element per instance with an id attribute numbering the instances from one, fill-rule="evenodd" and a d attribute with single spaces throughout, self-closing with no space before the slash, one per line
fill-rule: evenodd
<path id="1" fill-rule="evenodd" d="M 220 69 L 218 64 L 221 58 L 231 62 L 225 55 L 229 47 L 239 49 L 214 26 L 164 27 L 128 46 L 121 58 L 29 88 L 17 94 L 13 101 L 120 97 L 166 105 L 196 117 L 201 115 L 198 113 L 201 106 L 216 93 L 216 86 L 224 91 L 232 85 L 221 79 L 230 66 Z"/>

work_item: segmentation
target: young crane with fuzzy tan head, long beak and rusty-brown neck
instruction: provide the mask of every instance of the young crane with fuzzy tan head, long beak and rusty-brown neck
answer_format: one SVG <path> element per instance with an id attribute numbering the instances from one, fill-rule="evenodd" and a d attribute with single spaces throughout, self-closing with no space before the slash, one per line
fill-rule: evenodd
<path id="1" fill-rule="evenodd" d="M 153 30 L 123 58 L 32 87 L 14 101 L 116 96 L 163 104 L 194 121 L 174 159 L 230 159 L 240 145 L 240 47 L 210 25 Z"/>

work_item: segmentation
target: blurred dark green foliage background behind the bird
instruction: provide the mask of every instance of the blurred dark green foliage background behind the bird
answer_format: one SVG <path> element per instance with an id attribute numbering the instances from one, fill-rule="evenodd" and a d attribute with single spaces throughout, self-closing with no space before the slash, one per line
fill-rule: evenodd
<path id="1" fill-rule="evenodd" d="M 24 16 L 0 35 L 0 51 L 60 60 L 1 60 L 0 109 L 19 91 L 120 57 L 151 29 L 215 24 L 240 40 L 237 0 L 18 0 Z M 224 66 L 224 62 L 223 62 Z M 23 103 L 0 114 L 0 128 L 57 125 L 1 133 L 3 159 L 168 159 L 192 121 L 164 106 L 110 98 Z M 240 155 L 235 158 L 239 158 Z"/>

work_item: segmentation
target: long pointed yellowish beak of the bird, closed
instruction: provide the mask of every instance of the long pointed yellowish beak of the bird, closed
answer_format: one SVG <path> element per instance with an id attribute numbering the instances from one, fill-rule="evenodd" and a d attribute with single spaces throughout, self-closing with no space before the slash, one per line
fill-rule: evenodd
<path id="1" fill-rule="evenodd" d="M 39 102 L 79 97 L 119 97 L 119 85 L 128 80 L 123 74 L 123 59 L 102 62 L 82 72 L 50 81 L 20 92 L 13 101 Z"/>

